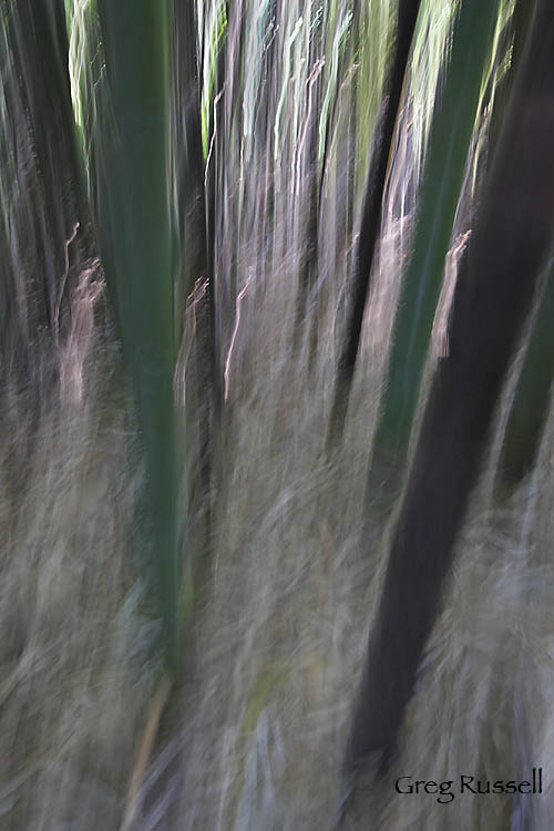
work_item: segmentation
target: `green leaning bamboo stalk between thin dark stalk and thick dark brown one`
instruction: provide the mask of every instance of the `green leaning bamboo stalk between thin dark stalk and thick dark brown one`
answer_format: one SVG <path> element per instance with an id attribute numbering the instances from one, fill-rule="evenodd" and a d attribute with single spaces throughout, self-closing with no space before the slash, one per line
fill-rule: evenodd
<path id="1" fill-rule="evenodd" d="M 392 331 L 387 387 L 368 480 L 368 497 L 379 496 L 384 504 L 404 470 L 444 258 L 497 14 L 497 0 L 485 3 L 464 0 L 454 23 L 451 59 L 433 115 L 413 253 Z"/>

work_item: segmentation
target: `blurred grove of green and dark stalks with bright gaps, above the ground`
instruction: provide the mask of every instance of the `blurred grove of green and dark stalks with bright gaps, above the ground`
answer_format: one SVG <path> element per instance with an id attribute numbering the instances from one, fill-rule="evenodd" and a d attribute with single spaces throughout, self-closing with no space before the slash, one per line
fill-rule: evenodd
<path id="1" fill-rule="evenodd" d="M 2 0 L 1 14 L 2 371 L 40 418 L 62 382 L 43 356 L 71 337 L 83 269 L 105 276 L 95 315 L 115 319 L 133 390 L 176 684 L 258 298 L 293 297 L 290 355 L 314 396 L 331 391 L 324 465 L 356 418 L 363 339 L 390 343 L 360 540 L 369 558 L 386 538 L 388 566 L 343 763 L 347 790 L 375 759 L 382 776 L 517 350 L 496 504 L 533 469 L 551 407 L 551 1 Z"/>

